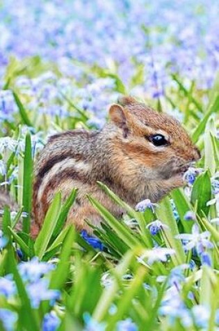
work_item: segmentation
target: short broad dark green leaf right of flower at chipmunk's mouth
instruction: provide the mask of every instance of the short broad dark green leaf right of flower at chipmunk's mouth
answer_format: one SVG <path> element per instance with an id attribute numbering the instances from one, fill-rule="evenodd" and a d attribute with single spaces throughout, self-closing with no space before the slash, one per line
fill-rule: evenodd
<path id="1" fill-rule="evenodd" d="M 191 194 L 191 202 L 193 206 L 197 204 L 197 214 L 202 216 L 202 211 L 205 215 L 209 213 L 209 206 L 206 203 L 211 199 L 211 178 L 209 171 L 200 174 L 195 180 Z"/>

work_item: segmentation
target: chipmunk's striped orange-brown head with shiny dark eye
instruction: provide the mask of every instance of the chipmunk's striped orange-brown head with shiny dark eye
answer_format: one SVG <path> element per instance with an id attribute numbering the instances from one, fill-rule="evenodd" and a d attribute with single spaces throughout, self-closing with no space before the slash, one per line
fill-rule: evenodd
<path id="1" fill-rule="evenodd" d="M 118 105 L 112 105 L 109 116 L 117 128 L 117 144 L 124 155 L 145 169 L 145 176 L 150 179 L 183 175 L 191 162 L 200 159 L 200 151 L 172 116 L 131 97 L 123 97 Z"/>

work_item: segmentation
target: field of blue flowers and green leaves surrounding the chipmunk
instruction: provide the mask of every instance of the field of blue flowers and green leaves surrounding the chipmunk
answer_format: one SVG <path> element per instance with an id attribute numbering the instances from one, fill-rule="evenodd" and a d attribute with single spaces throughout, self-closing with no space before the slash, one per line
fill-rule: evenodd
<path id="1" fill-rule="evenodd" d="M 217 0 L 0 0 L 0 330 L 219 330 Z M 64 226 L 56 194 L 29 235 L 35 157 L 55 132 L 99 129 L 131 94 L 183 123 L 202 158 L 159 204 Z M 1 193 L 0 193 L 1 194 Z M 21 221 L 22 220 L 22 221 Z M 22 222 L 22 231 L 17 231 Z"/>

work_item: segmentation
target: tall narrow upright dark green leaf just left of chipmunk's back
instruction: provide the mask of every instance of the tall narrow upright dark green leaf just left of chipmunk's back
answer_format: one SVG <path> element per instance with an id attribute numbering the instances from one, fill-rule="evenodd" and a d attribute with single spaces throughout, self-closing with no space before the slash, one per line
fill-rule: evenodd
<path id="1" fill-rule="evenodd" d="M 32 178 L 33 178 L 33 160 L 31 148 L 31 135 L 26 134 L 25 153 L 24 153 L 24 171 L 23 171 L 23 210 L 27 217 L 23 217 L 23 231 L 30 233 L 31 229 L 31 206 L 32 206 Z"/>

